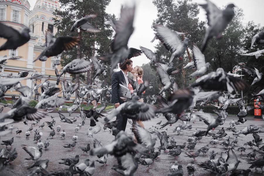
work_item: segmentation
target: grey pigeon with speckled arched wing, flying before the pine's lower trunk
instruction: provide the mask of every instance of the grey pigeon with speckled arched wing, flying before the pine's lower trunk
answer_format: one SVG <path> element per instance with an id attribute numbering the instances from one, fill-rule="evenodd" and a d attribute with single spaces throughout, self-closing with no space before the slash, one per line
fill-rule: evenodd
<path id="1" fill-rule="evenodd" d="M 89 60 L 83 60 L 83 59 L 74 59 L 67 65 L 63 67 L 61 70 L 60 74 L 58 73 L 57 68 L 55 69 L 55 73 L 57 76 L 57 82 L 56 84 L 59 85 L 60 82 L 60 77 L 63 75 L 65 72 L 70 73 L 70 74 L 78 74 L 78 73 L 83 73 L 87 72 L 88 70 L 91 69 L 91 62 Z"/>

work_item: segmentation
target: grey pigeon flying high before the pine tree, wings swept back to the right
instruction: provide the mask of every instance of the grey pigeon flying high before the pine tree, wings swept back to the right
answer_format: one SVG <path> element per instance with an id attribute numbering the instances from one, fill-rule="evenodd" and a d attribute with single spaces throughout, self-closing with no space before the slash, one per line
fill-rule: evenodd
<path id="1" fill-rule="evenodd" d="M 86 15 L 86 16 L 82 17 L 81 19 L 77 20 L 72 25 L 70 31 L 73 32 L 75 30 L 75 28 L 79 28 L 82 31 L 86 31 L 86 32 L 89 32 L 89 33 L 97 33 L 97 32 L 100 32 L 101 30 L 95 28 L 90 23 L 88 23 L 88 19 L 95 18 L 95 17 L 97 17 L 97 15 L 95 15 L 95 14 L 89 14 L 89 15 Z"/>

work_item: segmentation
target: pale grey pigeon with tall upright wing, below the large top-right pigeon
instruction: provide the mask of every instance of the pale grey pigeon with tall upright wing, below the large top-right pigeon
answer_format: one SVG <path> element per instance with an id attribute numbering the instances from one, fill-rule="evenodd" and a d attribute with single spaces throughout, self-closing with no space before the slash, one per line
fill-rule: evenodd
<path id="1" fill-rule="evenodd" d="M 205 72 L 207 72 L 210 63 L 205 63 L 205 57 L 203 53 L 199 50 L 197 45 L 192 45 L 192 54 L 194 59 L 194 65 L 197 68 L 195 72 L 193 72 L 191 75 L 189 75 L 190 78 L 196 77 L 196 76 L 202 76 Z"/>

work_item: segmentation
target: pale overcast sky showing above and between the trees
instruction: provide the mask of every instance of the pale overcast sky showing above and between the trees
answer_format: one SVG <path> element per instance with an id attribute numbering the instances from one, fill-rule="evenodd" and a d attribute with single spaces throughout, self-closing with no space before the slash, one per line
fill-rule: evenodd
<path id="1" fill-rule="evenodd" d="M 33 9 L 36 0 L 28 0 L 31 9 Z M 176 1 L 176 0 L 175 0 Z M 211 0 L 216 6 L 223 8 L 227 4 L 233 3 L 238 8 L 242 8 L 244 11 L 244 24 L 248 21 L 254 21 L 255 24 L 260 24 L 264 26 L 263 16 L 263 6 L 264 0 Z M 122 4 L 126 4 L 131 2 L 131 0 L 111 0 L 109 6 L 106 8 L 107 13 L 115 14 L 117 18 L 120 17 L 120 9 Z M 204 0 L 193 0 L 198 4 L 204 4 L 206 1 Z M 150 43 L 150 41 L 154 37 L 154 32 L 151 29 L 151 25 L 154 19 L 157 18 L 157 9 L 153 5 L 152 0 L 136 0 L 136 16 L 134 18 L 134 32 L 131 35 L 128 47 L 138 48 L 139 46 L 143 46 L 145 48 L 149 48 L 154 51 L 154 46 L 158 43 L 158 40 Z M 199 14 L 200 20 L 205 21 L 206 15 L 203 9 L 200 10 Z M 144 63 L 148 63 L 149 60 L 145 57 L 145 55 L 141 55 L 138 57 L 133 57 L 133 66 L 141 66 Z"/>

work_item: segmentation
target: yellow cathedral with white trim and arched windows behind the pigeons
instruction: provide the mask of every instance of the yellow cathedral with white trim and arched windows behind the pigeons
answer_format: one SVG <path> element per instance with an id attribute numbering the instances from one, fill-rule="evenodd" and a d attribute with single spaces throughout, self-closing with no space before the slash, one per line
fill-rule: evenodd
<path id="1" fill-rule="evenodd" d="M 45 62 L 41 62 L 40 60 L 33 62 L 45 48 L 45 31 L 49 28 L 53 34 L 57 33 L 57 29 L 53 26 L 53 18 L 55 17 L 53 12 L 56 9 L 60 10 L 58 0 L 37 0 L 32 11 L 30 10 L 30 4 L 27 0 L 0 1 L 0 23 L 11 26 L 17 30 L 23 27 L 28 27 L 31 30 L 31 38 L 28 43 L 16 50 L 0 51 L 0 57 L 4 57 L 5 55 L 7 57 L 21 56 L 18 60 L 6 60 L 6 62 L 1 64 L 1 73 L 16 76 L 18 72 L 29 71 L 29 77 L 37 71 L 45 75 L 42 80 L 32 82 L 30 79 L 27 79 L 21 81 L 21 84 L 33 87 L 35 83 L 40 84 L 50 75 L 49 81 L 51 86 L 61 88 L 60 84 L 56 85 L 55 68 L 57 67 L 59 71 L 61 69 L 60 65 L 54 65 L 57 58 L 56 56 L 49 57 Z M 5 43 L 5 41 L 6 39 L 0 38 L 0 45 Z M 60 59 L 60 56 L 58 56 L 57 59 Z M 68 73 L 66 73 L 63 78 L 69 82 L 72 80 Z M 18 86 L 20 85 L 18 84 Z M 5 93 L 5 98 L 11 99 L 12 96 L 18 98 L 19 93 L 16 92 L 15 89 L 16 86 L 9 89 Z M 62 96 L 62 94 L 59 96 Z M 72 99 L 75 99 L 74 94 L 71 97 L 71 100 Z"/>

